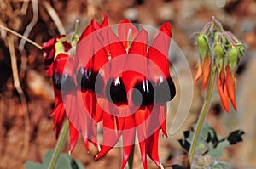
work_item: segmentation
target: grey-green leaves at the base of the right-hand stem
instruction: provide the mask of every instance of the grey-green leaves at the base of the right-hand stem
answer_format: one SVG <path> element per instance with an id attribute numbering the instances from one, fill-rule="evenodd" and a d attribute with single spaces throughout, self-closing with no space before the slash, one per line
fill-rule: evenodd
<path id="1" fill-rule="evenodd" d="M 206 166 L 214 169 L 226 168 L 228 166 L 227 163 L 217 160 L 223 156 L 223 149 L 230 147 L 232 144 L 241 142 L 241 136 L 243 134 L 244 132 L 242 130 L 236 130 L 230 132 L 227 137 L 222 138 L 215 132 L 214 128 L 207 123 L 204 123 L 201 129 L 199 143 L 195 149 L 195 157 L 197 158 L 197 161 L 195 161 L 195 168 L 206 168 Z M 194 132 L 185 131 L 183 132 L 183 135 L 184 138 L 178 140 L 179 144 L 183 149 L 189 152 Z"/>

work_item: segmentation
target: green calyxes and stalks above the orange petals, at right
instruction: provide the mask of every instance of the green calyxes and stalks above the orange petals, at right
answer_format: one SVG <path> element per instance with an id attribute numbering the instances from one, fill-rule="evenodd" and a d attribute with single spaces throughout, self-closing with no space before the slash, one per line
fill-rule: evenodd
<path id="1" fill-rule="evenodd" d="M 212 67 L 218 72 L 224 70 L 227 65 L 234 73 L 239 60 L 245 53 L 245 43 L 239 41 L 235 35 L 224 31 L 222 25 L 212 18 L 197 37 L 197 44 L 201 61 L 203 62 L 209 53 L 212 59 Z"/>

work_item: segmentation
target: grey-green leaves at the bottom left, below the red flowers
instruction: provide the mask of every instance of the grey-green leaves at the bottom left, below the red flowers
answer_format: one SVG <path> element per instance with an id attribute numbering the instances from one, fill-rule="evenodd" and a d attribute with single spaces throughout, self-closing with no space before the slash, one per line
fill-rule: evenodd
<path id="1" fill-rule="evenodd" d="M 26 169 L 47 169 L 50 159 L 54 153 L 54 150 L 50 149 L 45 155 L 43 163 L 26 161 Z M 84 166 L 79 161 L 74 161 L 72 156 L 63 154 L 60 156 L 56 169 L 84 169 Z"/>

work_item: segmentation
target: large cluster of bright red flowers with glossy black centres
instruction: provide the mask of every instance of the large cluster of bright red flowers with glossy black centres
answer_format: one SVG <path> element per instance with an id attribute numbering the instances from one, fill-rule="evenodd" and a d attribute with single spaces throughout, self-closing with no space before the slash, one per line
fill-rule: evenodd
<path id="1" fill-rule="evenodd" d="M 86 149 L 89 150 L 91 142 L 99 150 L 96 160 L 106 155 L 122 137 L 121 168 L 124 168 L 137 132 L 144 168 L 147 168 L 147 155 L 162 168 L 158 139 L 160 130 L 167 136 L 166 102 L 176 94 L 168 60 L 171 29 L 169 23 L 162 25 L 148 45 L 146 30 L 138 31 L 125 19 L 115 34 L 104 15 L 102 25 L 91 20 L 79 38 L 59 36 L 44 43 L 45 65 L 54 83 L 55 108 L 51 115 L 56 136 L 67 118 L 70 152 L 79 132 Z M 101 149 L 97 142 L 100 123 Z"/>

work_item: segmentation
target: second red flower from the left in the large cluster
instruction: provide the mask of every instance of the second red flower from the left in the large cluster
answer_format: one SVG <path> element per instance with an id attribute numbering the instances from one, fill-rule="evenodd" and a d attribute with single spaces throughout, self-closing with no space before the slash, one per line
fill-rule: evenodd
<path id="1" fill-rule="evenodd" d="M 84 108 L 73 108 L 73 105 L 67 105 L 72 109 L 77 110 L 81 122 L 74 120 L 76 127 L 82 131 L 84 144 L 88 150 L 88 140 L 100 149 L 97 144 L 97 124 L 102 121 L 103 110 L 98 104 L 97 99 L 103 97 L 103 88 L 105 80 L 100 69 L 108 62 L 108 55 L 102 44 L 99 41 L 99 30 L 108 26 L 107 16 L 104 15 L 102 25 L 99 25 L 96 20 L 91 20 L 90 25 L 82 33 L 77 44 L 77 53 L 75 55 L 75 63 L 77 63 L 77 94 L 73 95 L 73 104 L 79 103 L 78 97 L 81 94 Z M 96 33 L 95 33 L 96 31 Z M 82 42 L 83 41 L 83 42 Z M 80 52 L 82 51 L 82 52 Z M 96 82 L 96 78 L 98 82 Z M 99 96 L 98 98 L 96 97 Z M 72 99 L 69 99 L 72 100 Z"/>

